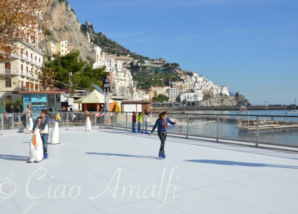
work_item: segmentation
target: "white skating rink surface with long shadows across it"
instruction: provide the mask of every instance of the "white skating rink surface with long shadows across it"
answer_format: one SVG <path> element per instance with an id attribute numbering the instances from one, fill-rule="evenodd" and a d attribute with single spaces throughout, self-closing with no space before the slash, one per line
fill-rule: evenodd
<path id="1" fill-rule="evenodd" d="M 298 153 L 78 127 L 26 163 L 31 137 L 0 135 L 3 214 L 298 213 Z"/>

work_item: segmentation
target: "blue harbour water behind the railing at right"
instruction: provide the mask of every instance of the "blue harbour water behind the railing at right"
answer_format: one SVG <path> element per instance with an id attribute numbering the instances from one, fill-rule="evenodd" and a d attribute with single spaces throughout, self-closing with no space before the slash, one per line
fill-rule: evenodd
<path id="1" fill-rule="evenodd" d="M 186 110 L 185 113 L 189 113 L 189 117 L 196 116 L 195 114 L 206 114 L 202 119 L 196 119 L 191 121 L 189 134 L 200 135 L 206 137 L 217 137 L 217 122 L 214 121 L 214 116 L 207 114 L 221 114 L 221 118 L 239 118 L 239 119 L 256 119 L 253 115 L 265 115 L 260 116 L 260 119 L 267 121 L 288 121 L 288 122 L 298 122 L 297 113 L 289 113 L 289 110 L 249 110 L 249 112 L 240 112 L 237 110 Z M 288 113 L 287 113 L 288 112 Z M 178 118 L 180 112 L 172 111 L 169 115 L 170 118 Z M 237 115 L 227 115 L 227 114 L 237 114 Z M 289 117 L 296 116 L 296 117 Z M 209 118 L 210 119 L 209 119 Z M 183 122 L 182 119 L 179 121 Z M 175 127 L 173 132 L 183 132 L 186 133 L 185 127 Z M 256 141 L 256 133 L 241 133 L 238 131 L 235 122 L 227 122 L 226 120 L 221 120 L 219 124 L 219 134 L 220 138 L 245 140 L 245 141 Z M 263 132 L 260 133 L 259 142 L 272 143 L 272 144 L 285 144 L 285 145 L 295 145 L 298 146 L 298 129 L 295 131 L 276 131 L 276 132 Z"/>

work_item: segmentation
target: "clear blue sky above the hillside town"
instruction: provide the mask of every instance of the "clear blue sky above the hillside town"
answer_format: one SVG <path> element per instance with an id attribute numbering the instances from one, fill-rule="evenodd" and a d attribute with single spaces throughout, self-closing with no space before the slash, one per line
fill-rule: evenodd
<path id="1" fill-rule="evenodd" d="M 298 0 L 68 0 L 131 52 L 164 57 L 253 105 L 298 104 Z"/>

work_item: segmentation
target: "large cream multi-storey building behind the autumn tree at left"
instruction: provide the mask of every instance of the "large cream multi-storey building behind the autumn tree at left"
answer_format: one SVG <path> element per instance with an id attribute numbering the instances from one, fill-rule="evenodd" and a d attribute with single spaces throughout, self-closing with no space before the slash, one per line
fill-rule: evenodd
<path id="1" fill-rule="evenodd" d="M 0 62 L 0 100 L 17 100 L 14 91 L 38 91 L 38 75 L 43 64 L 43 53 L 36 45 L 16 41 L 19 51 Z"/>

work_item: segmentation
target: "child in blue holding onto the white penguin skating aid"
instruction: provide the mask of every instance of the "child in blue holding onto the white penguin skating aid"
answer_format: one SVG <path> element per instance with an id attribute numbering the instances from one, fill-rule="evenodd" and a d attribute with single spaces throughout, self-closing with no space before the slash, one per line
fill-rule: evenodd
<path id="1" fill-rule="evenodd" d="M 42 109 L 40 112 L 40 117 L 37 117 L 32 130 L 30 131 L 31 133 L 34 132 L 34 129 L 38 126 L 39 128 L 39 133 L 42 139 L 42 144 L 43 144 L 43 155 L 44 159 L 47 159 L 49 154 L 48 154 L 48 137 L 49 137 L 49 117 L 48 115 L 48 110 L 47 109 Z"/>

